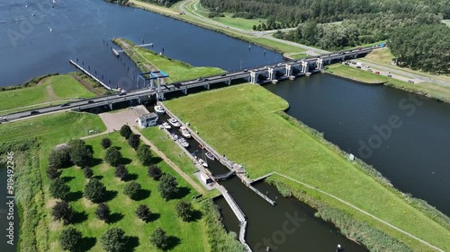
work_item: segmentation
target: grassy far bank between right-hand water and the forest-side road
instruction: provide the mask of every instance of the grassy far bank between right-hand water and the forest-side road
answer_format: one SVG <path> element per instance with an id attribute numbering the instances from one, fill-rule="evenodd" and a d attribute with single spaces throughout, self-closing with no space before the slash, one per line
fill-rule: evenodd
<path id="1" fill-rule="evenodd" d="M 343 64 L 329 65 L 327 67 L 329 70 L 333 71 L 330 74 L 335 74 L 357 82 L 384 83 L 386 86 L 391 86 L 404 91 L 419 93 L 437 100 L 450 102 L 450 86 L 443 86 L 437 83 L 407 83 Z"/>

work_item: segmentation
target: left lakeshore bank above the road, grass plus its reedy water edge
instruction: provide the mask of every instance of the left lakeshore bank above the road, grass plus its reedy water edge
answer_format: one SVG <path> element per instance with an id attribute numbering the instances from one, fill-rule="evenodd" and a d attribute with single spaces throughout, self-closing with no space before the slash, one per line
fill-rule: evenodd
<path id="1" fill-rule="evenodd" d="M 104 93 L 105 90 L 82 74 L 49 74 L 21 85 L 4 87 L 4 91 L 0 91 L 0 115 L 93 98 Z"/>

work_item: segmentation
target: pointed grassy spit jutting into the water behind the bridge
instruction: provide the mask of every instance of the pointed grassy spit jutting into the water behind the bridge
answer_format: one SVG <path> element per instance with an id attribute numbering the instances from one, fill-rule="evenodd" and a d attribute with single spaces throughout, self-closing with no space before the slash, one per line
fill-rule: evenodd
<path id="1" fill-rule="evenodd" d="M 210 76 L 224 73 L 218 67 L 200 66 L 186 64 L 166 56 L 159 56 L 156 52 L 147 48 L 136 47 L 134 43 L 127 39 L 112 39 L 112 41 L 123 49 L 133 62 L 138 65 L 141 71 L 161 69 L 169 75 L 169 83 L 187 81 L 200 76 Z"/>

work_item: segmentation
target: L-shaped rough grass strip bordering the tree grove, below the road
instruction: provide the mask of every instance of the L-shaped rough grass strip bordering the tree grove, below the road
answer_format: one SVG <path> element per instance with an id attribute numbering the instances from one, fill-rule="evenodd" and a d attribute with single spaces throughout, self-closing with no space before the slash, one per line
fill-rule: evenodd
<path id="1" fill-rule="evenodd" d="M 0 125 L 0 155 L 14 150 L 15 196 L 21 216 L 21 251 L 49 251 L 49 226 L 42 181 L 51 149 L 58 143 L 105 130 L 100 117 L 85 113 L 58 113 Z M 48 181 L 46 182 L 48 183 Z"/>

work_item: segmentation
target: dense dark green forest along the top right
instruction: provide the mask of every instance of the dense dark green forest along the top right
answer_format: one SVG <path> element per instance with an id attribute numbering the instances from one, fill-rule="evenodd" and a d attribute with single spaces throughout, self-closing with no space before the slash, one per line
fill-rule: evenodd
<path id="1" fill-rule="evenodd" d="M 338 50 L 388 40 L 399 65 L 450 73 L 450 0 L 201 0 L 213 13 L 266 18 L 253 30 Z M 294 28 L 283 32 L 280 29 Z"/>

